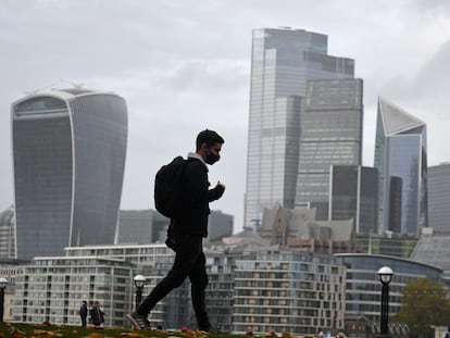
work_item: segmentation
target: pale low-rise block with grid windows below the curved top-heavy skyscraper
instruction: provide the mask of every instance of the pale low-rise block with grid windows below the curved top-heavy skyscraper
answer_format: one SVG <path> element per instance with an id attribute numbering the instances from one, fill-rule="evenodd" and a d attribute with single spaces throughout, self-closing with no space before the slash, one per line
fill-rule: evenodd
<path id="1" fill-rule="evenodd" d="M 105 326 L 124 326 L 135 266 L 112 258 L 36 258 L 17 268 L 13 321 L 77 325 L 79 308 L 99 301 Z"/>

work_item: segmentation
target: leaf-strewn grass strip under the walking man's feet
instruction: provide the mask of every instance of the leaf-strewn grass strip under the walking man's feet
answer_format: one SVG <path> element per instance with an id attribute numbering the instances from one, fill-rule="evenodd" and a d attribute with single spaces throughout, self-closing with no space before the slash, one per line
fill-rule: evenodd
<path id="1" fill-rule="evenodd" d="M 0 323 L 0 338 L 110 338 L 110 337 L 132 337 L 132 338 L 208 338 L 208 337 L 243 337 L 243 335 L 228 334 L 207 334 L 204 331 L 188 330 L 165 331 L 165 330 L 132 330 L 126 328 L 96 328 L 68 325 L 51 324 L 22 324 L 22 323 Z"/>

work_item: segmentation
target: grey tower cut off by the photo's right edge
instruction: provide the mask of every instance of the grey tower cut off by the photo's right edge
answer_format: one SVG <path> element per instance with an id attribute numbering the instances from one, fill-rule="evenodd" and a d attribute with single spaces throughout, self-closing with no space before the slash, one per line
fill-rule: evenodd
<path id="1" fill-rule="evenodd" d="M 428 226 L 450 234 L 450 163 L 428 166 Z"/>

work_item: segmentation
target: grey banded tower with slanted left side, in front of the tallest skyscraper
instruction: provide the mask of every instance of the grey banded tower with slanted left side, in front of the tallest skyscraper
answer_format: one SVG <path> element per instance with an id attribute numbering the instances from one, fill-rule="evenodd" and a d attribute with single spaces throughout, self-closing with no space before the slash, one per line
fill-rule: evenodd
<path id="1" fill-rule="evenodd" d="M 310 80 L 301 115 L 296 205 L 317 209 L 328 220 L 330 165 L 360 165 L 362 79 Z"/>

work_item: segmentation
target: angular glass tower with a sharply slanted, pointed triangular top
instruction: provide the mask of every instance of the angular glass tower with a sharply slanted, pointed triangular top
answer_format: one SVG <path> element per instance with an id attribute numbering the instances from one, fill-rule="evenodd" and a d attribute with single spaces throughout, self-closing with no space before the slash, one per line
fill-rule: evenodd
<path id="1" fill-rule="evenodd" d="M 378 233 L 418 235 L 427 226 L 426 125 L 378 98 L 374 166 Z"/>

